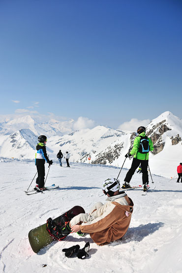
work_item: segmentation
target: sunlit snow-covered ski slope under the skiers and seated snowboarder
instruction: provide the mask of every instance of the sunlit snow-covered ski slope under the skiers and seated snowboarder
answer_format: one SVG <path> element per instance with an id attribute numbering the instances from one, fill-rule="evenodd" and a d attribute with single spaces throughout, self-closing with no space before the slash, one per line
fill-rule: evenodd
<path id="1" fill-rule="evenodd" d="M 182 273 L 182 183 L 152 175 L 155 189 L 142 196 L 142 189 L 128 190 L 134 212 L 122 240 L 98 246 L 87 234 L 71 234 L 53 242 L 35 254 L 28 233 L 73 206 L 89 212 L 93 203 L 105 202 L 101 184 L 117 177 L 120 169 L 82 163 L 71 168 L 51 166 L 46 185 L 60 189 L 43 194 L 26 195 L 35 175 L 33 162 L 0 162 L 0 270 L 4 273 Z M 46 174 L 48 167 L 46 165 Z M 121 184 L 127 170 L 120 174 Z M 134 174 L 131 185 L 142 184 L 141 174 Z M 30 188 L 33 188 L 32 182 Z M 63 248 L 90 242 L 89 258 L 67 258 Z M 47 267 L 43 268 L 42 265 Z"/>

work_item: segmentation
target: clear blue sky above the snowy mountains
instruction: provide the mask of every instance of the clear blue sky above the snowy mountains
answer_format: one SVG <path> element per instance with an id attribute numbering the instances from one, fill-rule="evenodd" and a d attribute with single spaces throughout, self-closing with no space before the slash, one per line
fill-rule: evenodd
<path id="1" fill-rule="evenodd" d="M 182 118 L 181 0 L 0 0 L 0 114 Z"/>

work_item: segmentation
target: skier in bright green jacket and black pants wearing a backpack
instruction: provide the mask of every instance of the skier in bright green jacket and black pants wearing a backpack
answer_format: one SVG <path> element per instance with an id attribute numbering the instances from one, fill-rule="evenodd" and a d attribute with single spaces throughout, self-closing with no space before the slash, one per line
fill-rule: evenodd
<path id="1" fill-rule="evenodd" d="M 126 174 L 124 179 L 124 184 L 122 188 L 130 188 L 130 180 L 138 168 L 141 165 L 142 168 L 142 181 L 144 190 L 146 190 L 147 185 L 149 184 L 149 175 L 148 175 L 148 164 L 149 164 L 149 151 L 153 151 L 153 143 L 150 138 L 148 138 L 145 134 L 146 128 L 144 126 L 140 126 L 137 129 L 137 133 L 139 134 L 133 143 L 133 149 L 131 152 L 126 153 L 125 157 L 130 157 L 133 155 L 133 161 L 131 164 L 131 168 Z"/>

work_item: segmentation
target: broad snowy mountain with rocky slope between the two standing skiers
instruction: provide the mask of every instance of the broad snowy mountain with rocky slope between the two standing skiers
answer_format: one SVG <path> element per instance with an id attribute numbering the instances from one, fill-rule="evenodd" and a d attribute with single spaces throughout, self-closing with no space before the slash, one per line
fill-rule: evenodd
<path id="1" fill-rule="evenodd" d="M 48 145 L 55 153 L 59 150 L 69 151 L 74 162 L 88 162 L 88 157 L 91 156 L 92 164 L 110 164 L 118 158 L 121 149 L 129 148 L 130 143 L 128 135 L 121 130 L 96 126 L 59 138 L 51 137 Z M 104 154 L 105 150 L 109 150 L 107 156 Z"/>

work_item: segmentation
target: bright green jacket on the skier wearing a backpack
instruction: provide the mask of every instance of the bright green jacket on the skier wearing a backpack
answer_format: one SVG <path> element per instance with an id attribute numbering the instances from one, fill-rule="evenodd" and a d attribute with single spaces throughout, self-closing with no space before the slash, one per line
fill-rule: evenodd
<path id="1" fill-rule="evenodd" d="M 146 134 L 145 132 L 142 132 L 141 134 L 139 134 L 139 136 L 137 136 L 133 142 L 133 149 L 131 150 L 130 154 L 134 154 L 134 158 L 140 159 L 140 160 L 148 160 L 149 159 L 149 152 L 147 153 L 141 153 L 139 152 L 139 147 L 140 147 L 140 137 L 145 137 Z M 148 138 L 148 137 L 147 137 Z M 150 147 L 150 151 L 153 151 L 153 143 L 152 140 L 150 138 L 149 139 L 149 147 Z"/>

